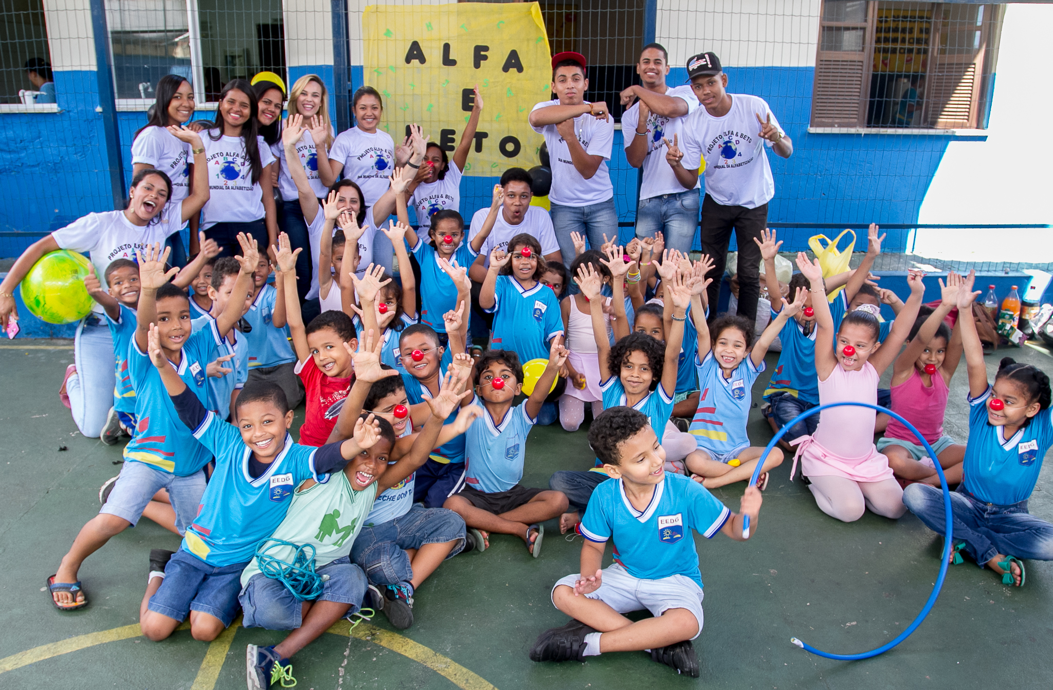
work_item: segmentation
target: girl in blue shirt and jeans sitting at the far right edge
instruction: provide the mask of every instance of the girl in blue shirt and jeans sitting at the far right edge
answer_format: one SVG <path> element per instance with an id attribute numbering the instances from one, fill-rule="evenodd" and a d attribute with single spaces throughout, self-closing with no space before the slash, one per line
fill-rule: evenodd
<path id="1" fill-rule="evenodd" d="M 1030 364 L 1002 358 L 994 385 L 988 382 L 984 346 L 976 332 L 972 305 L 975 275 L 958 286 L 958 327 L 969 369 L 969 443 L 962 480 L 951 494 L 954 515 L 952 563 L 960 551 L 980 567 L 1001 575 L 1004 585 L 1022 587 L 1020 559 L 1053 561 L 1053 525 L 1028 513 L 1046 452 L 1053 445 L 1050 379 Z M 910 305 L 910 302 L 908 302 Z M 903 503 L 929 529 L 947 527 L 942 491 L 911 484 Z"/>

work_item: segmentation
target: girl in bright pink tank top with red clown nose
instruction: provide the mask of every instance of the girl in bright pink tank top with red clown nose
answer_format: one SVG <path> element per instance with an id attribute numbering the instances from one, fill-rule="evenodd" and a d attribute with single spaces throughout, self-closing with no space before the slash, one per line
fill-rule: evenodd
<path id="1" fill-rule="evenodd" d="M 934 462 L 938 462 L 947 483 L 961 482 L 961 461 L 966 447 L 943 434 L 943 414 L 950 395 L 948 384 L 961 361 L 961 328 L 955 325 L 954 333 L 943 323 L 943 318 L 957 305 L 961 277 L 947 275 L 947 285 L 939 281 L 941 302 L 925 321 L 919 317 L 911 329 L 907 347 L 892 365 L 893 412 L 914 425 L 932 446 L 935 458 L 921 441 L 893 419 L 877 440 L 877 449 L 889 459 L 889 467 L 896 476 L 939 486 Z"/>

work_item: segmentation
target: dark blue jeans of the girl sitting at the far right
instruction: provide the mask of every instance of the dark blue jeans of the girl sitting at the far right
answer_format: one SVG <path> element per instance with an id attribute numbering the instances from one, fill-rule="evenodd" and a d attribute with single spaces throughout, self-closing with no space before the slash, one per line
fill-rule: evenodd
<path id="1" fill-rule="evenodd" d="M 903 489 L 903 503 L 929 529 L 942 534 L 943 492 L 927 484 Z M 1028 513 L 1028 502 L 1011 506 L 984 503 L 962 486 L 951 492 L 954 541 L 982 566 L 999 553 L 1017 559 L 1053 561 L 1053 525 Z"/>

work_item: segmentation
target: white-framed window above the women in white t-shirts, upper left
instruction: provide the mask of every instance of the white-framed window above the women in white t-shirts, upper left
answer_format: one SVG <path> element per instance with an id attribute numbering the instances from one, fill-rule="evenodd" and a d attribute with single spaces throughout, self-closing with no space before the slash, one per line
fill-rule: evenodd
<path id="1" fill-rule="evenodd" d="M 281 0 L 106 0 L 106 19 L 125 103 L 152 103 L 167 74 L 190 80 L 199 103 L 218 100 L 232 79 L 287 77 Z"/>

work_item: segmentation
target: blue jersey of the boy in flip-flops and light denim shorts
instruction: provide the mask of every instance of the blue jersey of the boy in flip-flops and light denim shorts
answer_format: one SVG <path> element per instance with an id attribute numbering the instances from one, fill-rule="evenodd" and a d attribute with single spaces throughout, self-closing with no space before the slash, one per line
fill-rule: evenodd
<path id="1" fill-rule="evenodd" d="M 182 348 L 176 371 L 202 405 L 207 405 L 208 383 L 205 367 L 216 348 L 219 333 L 215 326 L 192 333 Z M 173 365 L 175 366 L 175 365 Z M 136 392 L 135 435 L 124 446 L 124 460 L 145 463 L 176 476 L 188 476 L 212 460 L 212 453 L 194 440 L 191 430 L 179 420 L 161 373 L 142 352 L 135 339 L 128 346 L 128 372 Z"/>

